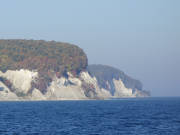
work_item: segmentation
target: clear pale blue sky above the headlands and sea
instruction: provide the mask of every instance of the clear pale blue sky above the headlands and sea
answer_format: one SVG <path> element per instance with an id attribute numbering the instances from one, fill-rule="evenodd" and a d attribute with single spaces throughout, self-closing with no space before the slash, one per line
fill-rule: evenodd
<path id="1" fill-rule="evenodd" d="M 180 96 L 179 0 L 0 0 L 1 39 L 76 44 L 152 96 Z"/>

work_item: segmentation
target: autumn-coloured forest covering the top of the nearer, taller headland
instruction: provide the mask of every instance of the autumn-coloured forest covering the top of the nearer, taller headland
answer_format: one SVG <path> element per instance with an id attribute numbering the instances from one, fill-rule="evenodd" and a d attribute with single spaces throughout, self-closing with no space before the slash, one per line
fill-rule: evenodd
<path id="1" fill-rule="evenodd" d="M 52 77 L 71 72 L 78 75 L 87 67 L 83 50 L 69 43 L 43 40 L 0 40 L 0 71 L 28 69 L 39 73 L 34 87 L 45 90 Z M 1 79 L 2 80 L 2 79 Z"/>

